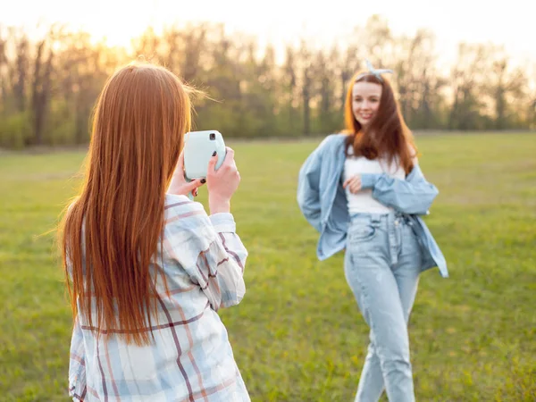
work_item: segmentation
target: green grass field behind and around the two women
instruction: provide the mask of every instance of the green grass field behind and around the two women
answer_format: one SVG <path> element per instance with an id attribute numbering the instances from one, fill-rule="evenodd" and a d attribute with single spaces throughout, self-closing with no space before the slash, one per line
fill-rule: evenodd
<path id="1" fill-rule="evenodd" d="M 349 401 L 367 327 L 342 255 L 318 262 L 296 204 L 318 143 L 236 143 L 247 295 L 222 311 L 254 401 Z M 424 272 L 410 322 L 421 401 L 536 399 L 536 136 L 417 138 L 450 278 Z M 232 145 L 232 144 L 231 144 Z M 81 152 L 0 155 L 0 399 L 65 401 L 71 316 L 53 235 Z M 199 199 L 205 202 L 205 190 Z"/>

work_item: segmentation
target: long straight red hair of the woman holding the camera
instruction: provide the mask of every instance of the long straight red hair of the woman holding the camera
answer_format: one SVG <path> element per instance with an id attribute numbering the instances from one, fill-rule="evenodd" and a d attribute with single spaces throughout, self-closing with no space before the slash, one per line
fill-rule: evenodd
<path id="1" fill-rule="evenodd" d="M 80 196 L 60 226 L 73 316 L 138 345 L 149 342 L 158 301 L 150 269 L 190 121 L 188 87 L 171 71 L 147 63 L 116 71 L 96 102 Z"/>

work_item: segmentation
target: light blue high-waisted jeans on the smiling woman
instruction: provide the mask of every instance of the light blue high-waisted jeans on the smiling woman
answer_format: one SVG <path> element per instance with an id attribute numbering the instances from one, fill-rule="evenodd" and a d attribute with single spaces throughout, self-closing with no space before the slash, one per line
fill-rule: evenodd
<path id="1" fill-rule="evenodd" d="M 421 249 L 402 214 L 355 214 L 348 229 L 345 274 L 370 327 L 356 401 L 415 401 L 407 320 L 421 272 Z"/>

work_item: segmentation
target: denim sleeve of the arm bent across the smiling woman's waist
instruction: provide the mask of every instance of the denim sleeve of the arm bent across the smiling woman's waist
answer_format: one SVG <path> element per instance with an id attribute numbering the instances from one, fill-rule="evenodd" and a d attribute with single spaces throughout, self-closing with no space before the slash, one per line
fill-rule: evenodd
<path id="1" fill-rule="evenodd" d="M 388 174 L 364 173 L 361 175 L 361 188 L 373 188 L 373 198 L 381 204 L 390 206 L 405 214 L 428 214 L 438 188 L 424 179 L 418 164 L 406 177 L 399 180 Z"/>

